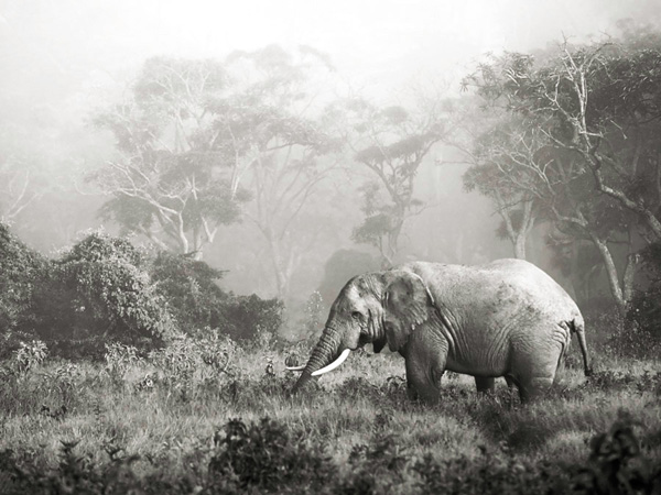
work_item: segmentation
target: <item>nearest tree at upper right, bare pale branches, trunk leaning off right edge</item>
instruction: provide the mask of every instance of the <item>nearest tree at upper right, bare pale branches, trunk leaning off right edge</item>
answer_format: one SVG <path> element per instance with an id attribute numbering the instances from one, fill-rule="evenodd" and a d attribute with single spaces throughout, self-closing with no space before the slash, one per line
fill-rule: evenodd
<path id="1" fill-rule="evenodd" d="M 483 92 L 545 122 L 554 146 L 578 154 L 596 189 L 632 211 L 649 241 L 661 235 L 661 35 L 574 47 L 564 42 L 543 66 L 508 54 L 480 68 Z"/>

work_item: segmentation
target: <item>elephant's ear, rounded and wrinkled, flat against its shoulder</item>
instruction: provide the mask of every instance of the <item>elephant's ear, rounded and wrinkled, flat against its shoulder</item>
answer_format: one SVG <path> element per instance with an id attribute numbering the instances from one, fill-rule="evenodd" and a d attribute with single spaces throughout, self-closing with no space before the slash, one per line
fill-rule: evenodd
<path id="1" fill-rule="evenodd" d="M 403 270 L 388 275 L 383 300 L 383 327 L 388 346 L 395 352 L 409 341 L 411 331 L 426 321 L 434 297 L 420 275 Z"/>

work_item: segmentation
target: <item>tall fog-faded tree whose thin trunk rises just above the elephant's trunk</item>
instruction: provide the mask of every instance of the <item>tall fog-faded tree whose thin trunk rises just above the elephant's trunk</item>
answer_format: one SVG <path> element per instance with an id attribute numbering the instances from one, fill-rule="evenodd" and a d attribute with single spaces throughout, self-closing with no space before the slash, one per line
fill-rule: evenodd
<path id="1" fill-rule="evenodd" d="M 324 234 L 311 205 L 327 201 L 315 193 L 338 166 L 339 142 L 315 107 L 324 99 L 315 79 L 327 84 L 332 66 L 312 48 L 267 46 L 229 55 L 226 67 L 237 84 L 209 107 L 212 132 L 235 157 L 232 190 L 243 185 L 253 197 L 246 217 L 266 242 L 278 297 L 286 300 L 294 273 Z"/>

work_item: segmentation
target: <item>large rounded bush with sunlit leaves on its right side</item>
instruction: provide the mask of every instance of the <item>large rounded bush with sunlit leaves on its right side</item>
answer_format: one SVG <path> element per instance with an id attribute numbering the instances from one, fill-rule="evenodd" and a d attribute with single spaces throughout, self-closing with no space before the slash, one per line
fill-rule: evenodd
<path id="1" fill-rule="evenodd" d="M 153 346 L 171 331 L 143 256 L 122 239 L 94 232 L 51 263 L 35 290 L 36 332 L 59 353 L 102 353 L 117 340 Z"/>

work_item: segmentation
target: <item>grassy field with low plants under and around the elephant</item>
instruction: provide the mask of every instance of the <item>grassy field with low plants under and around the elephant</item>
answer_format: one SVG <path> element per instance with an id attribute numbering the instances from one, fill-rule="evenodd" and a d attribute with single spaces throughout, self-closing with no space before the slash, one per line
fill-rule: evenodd
<path id="1" fill-rule="evenodd" d="M 502 381 L 478 397 L 469 377 L 447 374 L 427 407 L 407 399 L 401 358 L 371 352 L 290 397 L 296 376 L 270 349 L 182 339 L 142 358 L 113 346 L 93 364 L 25 348 L 2 369 L 0 491 L 661 491 L 658 360 L 594 344 L 588 381 L 575 345 L 535 404 Z"/>

